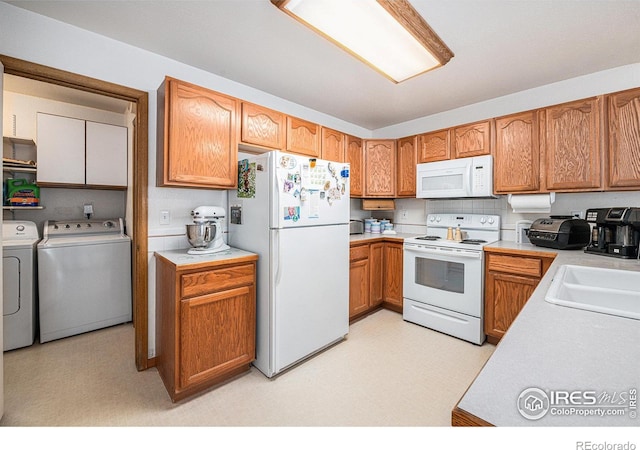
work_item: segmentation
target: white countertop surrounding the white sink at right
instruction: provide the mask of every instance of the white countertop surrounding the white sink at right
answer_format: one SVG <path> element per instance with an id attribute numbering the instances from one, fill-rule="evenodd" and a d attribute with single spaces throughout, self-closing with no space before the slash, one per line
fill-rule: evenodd
<path id="1" fill-rule="evenodd" d="M 640 404 L 634 411 L 626 408 L 624 415 L 603 417 L 564 408 L 568 414 L 554 414 L 557 402 L 538 420 L 518 410 L 518 398 L 528 388 L 548 395 L 593 391 L 598 398 L 611 396 L 609 403 L 592 409 L 611 406 L 612 399 L 617 406 L 630 406 L 630 391 L 640 389 L 640 321 L 554 305 L 544 297 L 563 264 L 640 271 L 640 262 L 505 241 L 485 249 L 492 247 L 550 251 L 557 257 L 458 406 L 496 426 L 640 426 Z"/>

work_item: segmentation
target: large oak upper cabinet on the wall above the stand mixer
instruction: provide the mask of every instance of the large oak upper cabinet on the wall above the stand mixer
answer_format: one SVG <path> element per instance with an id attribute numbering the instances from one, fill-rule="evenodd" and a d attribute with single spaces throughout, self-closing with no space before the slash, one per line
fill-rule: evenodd
<path id="1" fill-rule="evenodd" d="M 239 101 L 170 77 L 158 97 L 158 186 L 235 188 Z"/>

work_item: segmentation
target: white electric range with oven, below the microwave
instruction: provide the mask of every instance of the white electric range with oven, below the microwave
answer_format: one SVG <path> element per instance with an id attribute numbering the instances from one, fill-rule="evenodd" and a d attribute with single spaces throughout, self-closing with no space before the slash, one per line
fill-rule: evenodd
<path id="1" fill-rule="evenodd" d="M 404 320 L 482 344 L 483 247 L 499 240 L 498 215 L 427 215 L 427 235 L 404 241 Z"/>

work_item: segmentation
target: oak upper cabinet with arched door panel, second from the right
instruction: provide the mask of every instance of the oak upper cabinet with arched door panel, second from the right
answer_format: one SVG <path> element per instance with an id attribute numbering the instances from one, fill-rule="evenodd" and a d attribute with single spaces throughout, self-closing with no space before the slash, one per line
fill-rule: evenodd
<path id="1" fill-rule="evenodd" d="M 549 191 L 602 186 L 600 102 L 579 100 L 544 110 L 545 186 Z"/>

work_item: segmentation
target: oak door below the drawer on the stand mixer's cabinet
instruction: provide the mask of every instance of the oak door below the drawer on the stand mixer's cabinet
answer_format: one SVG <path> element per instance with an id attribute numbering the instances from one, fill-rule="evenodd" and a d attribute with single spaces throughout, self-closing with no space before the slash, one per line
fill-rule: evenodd
<path id="1" fill-rule="evenodd" d="M 253 361 L 254 299 L 253 287 L 243 286 L 181 301 L 181 389 Z"/>

